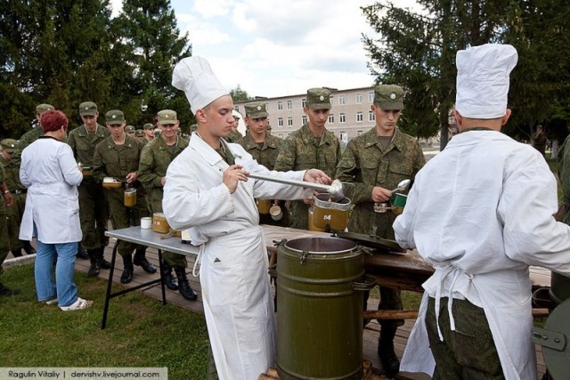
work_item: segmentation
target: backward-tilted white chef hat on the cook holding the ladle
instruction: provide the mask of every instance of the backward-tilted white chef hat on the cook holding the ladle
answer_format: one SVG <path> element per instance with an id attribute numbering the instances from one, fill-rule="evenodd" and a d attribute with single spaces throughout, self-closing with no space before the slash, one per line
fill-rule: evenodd
<path id="1" fill-rule="evenodd" d="M 193 114 L 220 96 L 229 94 L 212 72 L 208 61 L 197 55 L 176 64 L 172 85 L 186 94 Z"/>

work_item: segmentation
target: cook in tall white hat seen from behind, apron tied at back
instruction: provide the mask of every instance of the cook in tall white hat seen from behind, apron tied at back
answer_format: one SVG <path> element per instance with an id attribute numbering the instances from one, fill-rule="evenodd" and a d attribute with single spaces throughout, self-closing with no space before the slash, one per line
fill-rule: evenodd
<path id="1" fill-rule="evenodd" d="M 570 227 L 552 216 L 557 182 L 542 155 L 500 132 L 516 64 L 510 45 L 457 53 L 460 133 L 416 175 L 395 220 L 398 243 L 417 248 L 436 269 L 423 285 L 403 371 L 434 379 L 537 377 L 529 265 L 570 275 Z M 485 328 L 468 331 L 480 322 Z M 485 330 L 489 350 L 480 349 Z"/>

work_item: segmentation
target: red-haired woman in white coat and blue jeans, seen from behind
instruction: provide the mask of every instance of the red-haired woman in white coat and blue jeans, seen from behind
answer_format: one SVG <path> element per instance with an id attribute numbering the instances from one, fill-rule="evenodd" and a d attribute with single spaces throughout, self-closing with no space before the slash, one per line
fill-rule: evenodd
<path id="1" fill-rule="evenodd" d="M 77 185 L 83 174 L 73 151 L 62 142 L 68 124 L 63 112 L 44 112 L 40 117 L 44 135 L 21 153 L 20 182 L 28 188 L 28 198 L 20 239 L 37 238 L 37 299 L 58 303 L 62 311 L 75 311 L 91 306 L 93 301 L 78 297 L 73 281 L 77 242 L 81 240 Z"/>

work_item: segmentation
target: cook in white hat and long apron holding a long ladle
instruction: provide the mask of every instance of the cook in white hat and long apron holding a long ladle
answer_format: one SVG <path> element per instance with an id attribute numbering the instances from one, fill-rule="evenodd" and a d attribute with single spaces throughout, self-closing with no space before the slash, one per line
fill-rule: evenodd
<path id="1" fill-rule="evenodd" d="M 270 172 L 238 144 L 233 101 L 208 61 L 180 61 L 173 85 L 182 89 L 198 120 L 188 148 L 168 166 L 162 200 L 175 230 L 190 229 L 200 247 L 199 278 L 208 335 L 221 380 L 258 378 L 275 360 L 273 300 L 265 239 L 255 198 L 303 199 L 313 191 L 248 179 L 248 173 L 330 183 L 320 170 Z"/>

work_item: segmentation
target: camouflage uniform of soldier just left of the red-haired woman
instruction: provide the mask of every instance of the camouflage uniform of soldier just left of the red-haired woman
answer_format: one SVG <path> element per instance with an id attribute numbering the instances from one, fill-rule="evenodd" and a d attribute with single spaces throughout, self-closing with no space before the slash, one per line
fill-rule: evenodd
<path id="1" fill-rule="evenodd" d="M 6 207 L 6 222 L 10 241 L 10 250 L 14 257 L 18 257 L 21 255 L 21 249 L 24 248 L 25 244 L 19 239 L 19 236 L 21 216 L 24 214 L 24 207 L 26 206 L 26 192 L 28 192 L 28 190 L 20 182 L 20 165 L 13 158 L 11 161 L 8 161 L 0 154 L 0 166 L 4 169 L 4 181 L 6 182 L 6 186 L 12 193 L 12 198 L 14 199 L 12 206 Z"/>

